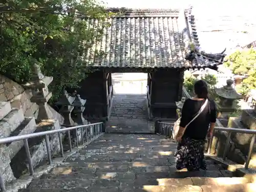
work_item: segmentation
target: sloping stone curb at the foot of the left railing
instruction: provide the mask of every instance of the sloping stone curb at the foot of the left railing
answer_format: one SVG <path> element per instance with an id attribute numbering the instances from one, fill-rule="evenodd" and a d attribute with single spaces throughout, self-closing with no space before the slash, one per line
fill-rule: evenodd
<path id="1" fill-rule="evenodd" d="M 81 145 L 79 147 L 74 147 L 72 149 L 72 152 L 66 152 L 64 154 L 64 157 L 53 158 L 52 159 L 52 165 L 47 164 L 47 165 L 39 166 L 38 168 L 36 168 L 34 170 L 34 175 L 33 176 L 31 176 L 30 174 L 25 174 L 24 176 L 20 177 L 19 179 L 14 180 L 11 184 L 6 184 L 6 191 L 5 192 L 18 192 L 19 189 L 27 188 L 29 186 L 29 184 L 32 182 L 33 179 L 37 179 L 37 178 L 41 177 L 43 174 L 49 173 L 51 169 L 53 169 L 53 168 L 55 168 L 59 165 L 62 165 L 62 164 L 69 164 L 69 163 L 65 163 L 63 161 L 66 160 L 71 155 L 77 153 L 79 150 L 81 150 L 82 147 L 87 146 L 88 144 L 90 144 L 94 140 L 98 139 L 103 134 L 104 133 L 101 133 L 100 135 L 93 138 L 90 142 L 86 142 L 86 143 L 84 143 L 83 145 Z"/>

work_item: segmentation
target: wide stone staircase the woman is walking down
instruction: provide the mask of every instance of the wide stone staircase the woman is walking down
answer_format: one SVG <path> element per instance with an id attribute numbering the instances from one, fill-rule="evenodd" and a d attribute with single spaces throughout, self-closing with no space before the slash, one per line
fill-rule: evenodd
<path id="1" fill-rule="evenodd" d="M 178 172 L 176 146 L 159 135 L 105 134 L 19 192 L 256 191 L 212 160 L 206 171 Z"/>

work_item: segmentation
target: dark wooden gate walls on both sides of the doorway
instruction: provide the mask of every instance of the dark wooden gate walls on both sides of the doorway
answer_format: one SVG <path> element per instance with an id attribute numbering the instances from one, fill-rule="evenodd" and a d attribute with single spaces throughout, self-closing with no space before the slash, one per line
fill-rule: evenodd
<path id="1" fill-rule="evenodd" d="M 109 71 L 108 71 L 109 72 Z M 176 104 L 182 96 L 184 72 L 176 69 L 158 69 L 147 76 L 147 108 L 150 119 L 175 118 Z M 84 116 L 88 119 L 108 120 L 113 101 L 112 75 L 96 71 L 80 83 L 77 90 L 87 99 Z"/>

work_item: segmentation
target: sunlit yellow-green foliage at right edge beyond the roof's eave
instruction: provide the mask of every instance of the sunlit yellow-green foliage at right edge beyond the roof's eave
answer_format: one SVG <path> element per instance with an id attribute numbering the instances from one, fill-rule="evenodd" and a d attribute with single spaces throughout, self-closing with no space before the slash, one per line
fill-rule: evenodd
<path id="1" fill-rule="evenodd" d="M 234 52 L 229 56 L 225 65 L 230 68 L 235 75 L 247 75 L 238 91 L 245 95 L 250 89 L 256 89 L 256 50 L 247 49 Z"/>

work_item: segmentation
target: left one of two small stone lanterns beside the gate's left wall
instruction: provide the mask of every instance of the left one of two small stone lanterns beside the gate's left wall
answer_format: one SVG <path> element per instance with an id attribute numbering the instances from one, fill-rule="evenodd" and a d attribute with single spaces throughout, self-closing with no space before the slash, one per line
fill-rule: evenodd
<path id="1" fill-rule="evenodd" d="M 71 118 L 71 112 L 74 109 L 74 106 L 71 106 L 71 104 L 74 102 L 74 100 L 75 100 L 75 97 L 70 96 L 67 93 L 67 91 L 64 90 L 60 100 L 56 103 L 61 105 L 59 113 L 64 118 L 63 126 L 75 125 L 73 119 Z"/>

